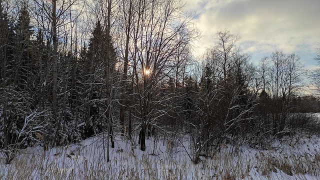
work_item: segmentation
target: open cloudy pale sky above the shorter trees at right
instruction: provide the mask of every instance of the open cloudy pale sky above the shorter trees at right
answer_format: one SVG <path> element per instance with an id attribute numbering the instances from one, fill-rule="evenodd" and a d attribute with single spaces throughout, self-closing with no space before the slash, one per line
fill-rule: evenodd
<path id="1" fill-rule="evenodd" d="M 197 51 L 213 44 L 218 30 L 241 36 L 238 45 L 252 60 L 275 50 L 295 52 L 306 67 L 320 47 L 320 0 L 185 0 L 195 11 L 202 38 Z"/>

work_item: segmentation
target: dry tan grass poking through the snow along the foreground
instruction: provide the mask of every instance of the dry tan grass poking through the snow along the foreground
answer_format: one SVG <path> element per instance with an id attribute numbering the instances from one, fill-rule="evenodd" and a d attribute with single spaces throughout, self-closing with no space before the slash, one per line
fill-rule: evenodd
<path id="1" fill-rule="evenodd" d="M 230 155 L 227 149 L 193 164 L 178 152 L 162 155 L 140 153 L 126 147 L 113 149 L 106 162 L 98 145 L 28 149 L 9 165 L 0 165 L 0 179 L 303 179 L 320 176 L 320 153 L 295 154 L 275 151 Z M 125 150 L 126 149 L 126 150 Z M 136 152 L 138 153 L 136 153 Z M 72 152 L 72 153 L 71 153 Z M 140 153 L 140 154 L 139 154 Z M 253 153 L 253 152 L 252 152 Z M 316 178 L 314 178 L 316 179 Z"/>

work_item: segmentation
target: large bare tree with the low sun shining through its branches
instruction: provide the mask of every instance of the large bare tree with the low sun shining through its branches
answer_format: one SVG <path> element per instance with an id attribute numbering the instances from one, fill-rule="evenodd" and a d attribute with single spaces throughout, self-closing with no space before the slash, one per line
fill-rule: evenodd
<path id="1" fill-rule="evenodd" d="M 151 125 L 156 127 L 156 121 L 170 110 L 159 109 L 165 107 L 165 102 L 169 100 L 159 93 L 172 70 L 169 61 L 174 59 L 176 50 L 182 44 L 193 38 L 188 30 L 190 18 L 176 16 L 181 14 L 182 7 L 179 2 L 170 0 L 142 0 L 136 6 L 136 17 L 132 22 L 132 74 L 137 96 L 136 116 L 140 122 L 141 150 L 146 147 L 147 128 Z M 176 35 L 181 38 L 176 39 Z"/>

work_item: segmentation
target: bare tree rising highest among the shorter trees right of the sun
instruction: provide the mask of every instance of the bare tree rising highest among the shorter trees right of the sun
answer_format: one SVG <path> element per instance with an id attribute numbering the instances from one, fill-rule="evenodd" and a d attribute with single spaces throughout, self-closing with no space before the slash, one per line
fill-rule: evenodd
<path id="1" fill-rule="evenodd" d="M 191 123 L 196 163 L 203 152 L 216 151 L 228 140 L 235 148 L 241 135 L 252 128 L 255 95 L 249 91 L 254 71 L 249 56 L 236 48 L 239 36 L 228 30 L 217 32 L 215 44 L 204 56 L 199 101 L 196 102 L 198 120 Z"/>

